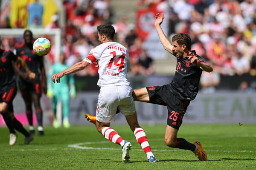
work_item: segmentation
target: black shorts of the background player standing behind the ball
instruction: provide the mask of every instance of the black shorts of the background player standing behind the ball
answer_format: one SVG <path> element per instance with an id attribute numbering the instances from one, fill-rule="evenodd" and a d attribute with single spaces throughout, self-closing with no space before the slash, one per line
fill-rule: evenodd
<path id="1" fill-rule="evenodd" d="M 21 95 L 25 93 L 41 95 L 41 81 L 39 78 L 35 80 L 19 78 L 18 86 L 20 88 Z"/>

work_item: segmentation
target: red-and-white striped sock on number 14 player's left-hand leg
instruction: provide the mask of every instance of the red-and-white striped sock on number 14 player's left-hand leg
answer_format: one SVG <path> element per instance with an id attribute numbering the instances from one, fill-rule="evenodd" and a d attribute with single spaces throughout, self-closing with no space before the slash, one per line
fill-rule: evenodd
<path id="1" fill-rule="evenodd" d="M 104 127 L 102 129 L 102 135 L 111 142 L 120 144 L 122 147 L 125 144 L 125 140 L 122 139 L 122 137 L 119 136 L 111 127 Z"/>

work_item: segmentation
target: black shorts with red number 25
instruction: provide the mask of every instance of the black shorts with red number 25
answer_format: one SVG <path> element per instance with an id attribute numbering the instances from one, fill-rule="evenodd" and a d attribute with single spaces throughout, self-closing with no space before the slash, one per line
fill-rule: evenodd
<path id="1" fill-rule="evenodd" d="M 169 85 L 146 87 L 149 103 L 167 106 L 167 125 L 179 129 L 190 100 L 180 99 L 172 94 Z"/>

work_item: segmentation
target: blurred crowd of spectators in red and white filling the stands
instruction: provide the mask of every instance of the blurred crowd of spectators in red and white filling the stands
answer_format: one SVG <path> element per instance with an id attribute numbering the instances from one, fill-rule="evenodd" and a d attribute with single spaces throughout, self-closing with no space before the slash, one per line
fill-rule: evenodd
<path id="1" fill-rule="evenodd" d="M 35 3 L 39 2 L 36 0 Z M 36 6 L 35 3 L 31 5 Z M 66 8 L 66 25 L 62 28 L 61 51 L 68 65 L 81 61 L 87 57 L 91 48 L 99 45 L 96 26 L 112 24 L 116 30 L 115 41 L 129 50 L 130 74 L 154 73 L 154 61 L 143 49 L 143 42 L 137 37 L 134 24 L 128 23 L 124 16 L 112 23 L 110 0 L 63 0 L 63 4 Z M 139 8 L 158 5 L 165 9 L 167 6 L 169 38 L 180 32 L 188 33 L 192 38 L 192 50 L 196 50 L 198 55 L 214 66 L 214 72 L 202 75 L 203 87 L 218 85 L 221 74 L 256 75 L 256 0 L 137 1 Z M 29 12 L 38 13 L 40 8 L 36 9 L 30 9 Z M 29 27 L 40 28 L 40 15 L 34 16 L 30 19 Z M 51 20 L 47 28 L 60 28 L 58 14 L 53 15 Z M 3 41 L 5 48 L 15 43 L 12 41 Z M 91 66 L 78 74 L 94 76 L 97 69 Z"/>

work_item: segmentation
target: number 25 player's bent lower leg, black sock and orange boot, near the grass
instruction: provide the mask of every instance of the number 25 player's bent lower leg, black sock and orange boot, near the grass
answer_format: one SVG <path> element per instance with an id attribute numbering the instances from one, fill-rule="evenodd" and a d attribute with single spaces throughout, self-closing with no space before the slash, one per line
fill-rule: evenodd
<path id="1" fill-rule="evenodd" d="M 194 144 L 192 144 L 187 142 L 186 139 L 177 138 L 177 132 L 178 129 L 167 125 L 164 139 L 167 146 L 184 150 L 191 150 L 195 153 L 196 156 L 198 156 L 198 159 L 200 161 L 207 161 L 207 154 L 201 147 L 200 142 L 195 142 Z"/>

